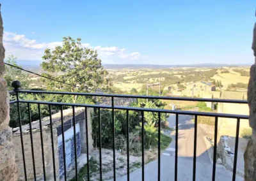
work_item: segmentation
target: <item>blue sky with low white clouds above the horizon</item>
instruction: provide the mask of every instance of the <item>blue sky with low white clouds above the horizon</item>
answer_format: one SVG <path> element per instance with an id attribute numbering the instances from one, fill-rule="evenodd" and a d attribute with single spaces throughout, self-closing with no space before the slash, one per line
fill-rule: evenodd
<path id="1" fill-rule="evenodd" d="M 57 1 L 1 3 L 6 57 L 42 60 L 63 36 L 82 38 L 103 63 L 253 63 L 256 2 Z"/>

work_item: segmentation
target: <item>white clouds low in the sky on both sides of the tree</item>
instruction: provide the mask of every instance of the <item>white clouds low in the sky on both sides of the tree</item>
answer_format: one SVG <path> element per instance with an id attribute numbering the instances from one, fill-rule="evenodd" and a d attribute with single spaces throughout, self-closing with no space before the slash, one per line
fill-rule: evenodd
<path id="1" fill-rule="evenodd" d="M 33 32 L 34 34 L 35 32 Z M 46 48 L 53 49 L 56 46 L 61 46 L 61 41 L 55 41 L 51 43 L 38 43 L 36 40 L 30 40 L 26 38 L 24 34 L 17 34 L 12 32 L 4 32 L 4 47 L 6 48 L 6 57 L 9 54 L 15 55 L 18 59 L 25 60 L 42 60 L 44 50 Z M 90 46 L 90 43 L 82 43 L 83 47 L 97 50 L 100 59 L 127 59 L 137 60 L 144 59 L 147 56 L 141 55 L 140 52 L 125 52 L 125 48 L 113 47 L 101 47 L 101 46 Z"/>

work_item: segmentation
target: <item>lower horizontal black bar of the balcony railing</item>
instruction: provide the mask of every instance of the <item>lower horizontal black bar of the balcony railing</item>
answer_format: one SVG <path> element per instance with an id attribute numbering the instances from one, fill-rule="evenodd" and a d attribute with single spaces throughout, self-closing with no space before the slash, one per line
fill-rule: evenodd
<path id="1" fill-rule="evenodd" d="M 87 105 L 87 104 L 77 104 L 77 103 L 55 103 L 47 101 L 12 101 L 12 103 L 31 103 L 31 104 L 42 104 L 42 105 L 59 105 L 59 106 L 81 106 L 88 108 L 115 108 L 116 110 L 133 110 L 133 111 L 143 111 L 143 112 L 160 112 L 160 113 L 173 113 L 179 115 L 198 115 L 206 117 L 223 117 L 223 118 L 233 118 L 233 119 L 249 119 L 248 115 L 236 115 L 228 113 L 210 113 L 210 112 L 192 112 L 192 111 L 180 111 L 180 110 L 162 110 L 153 108 L 138 108 L 138 107 L 125 107 L 125 106 L 104 106 L 104 105 Z"/>

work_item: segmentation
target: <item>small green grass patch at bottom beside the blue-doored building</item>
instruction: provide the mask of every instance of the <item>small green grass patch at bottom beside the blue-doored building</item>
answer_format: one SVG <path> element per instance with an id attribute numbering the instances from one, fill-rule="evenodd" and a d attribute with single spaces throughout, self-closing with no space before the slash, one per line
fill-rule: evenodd
<path id="1" fill-rule="evenodd" d="M 90 159 L 90 176 L 94 176 L 99 173 L 99 163 L 95 159 Z M 78 180 L 87 180 L 87 165 L 85 164 L 83 168 L 78 173 Z M 76 181 L 76 177 L 72 178 L 70 181 Z"/>

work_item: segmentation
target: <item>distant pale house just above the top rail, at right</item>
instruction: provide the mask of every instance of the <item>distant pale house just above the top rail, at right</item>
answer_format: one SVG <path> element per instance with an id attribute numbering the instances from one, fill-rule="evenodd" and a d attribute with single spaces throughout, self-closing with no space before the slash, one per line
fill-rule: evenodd
<path id="1" fill-rule="evenodd" d="M 188 83 L 186 85 L 187 91 L 216 91 L 216 86 L 210 82 L 198 81 L 195 83 Z"/>

